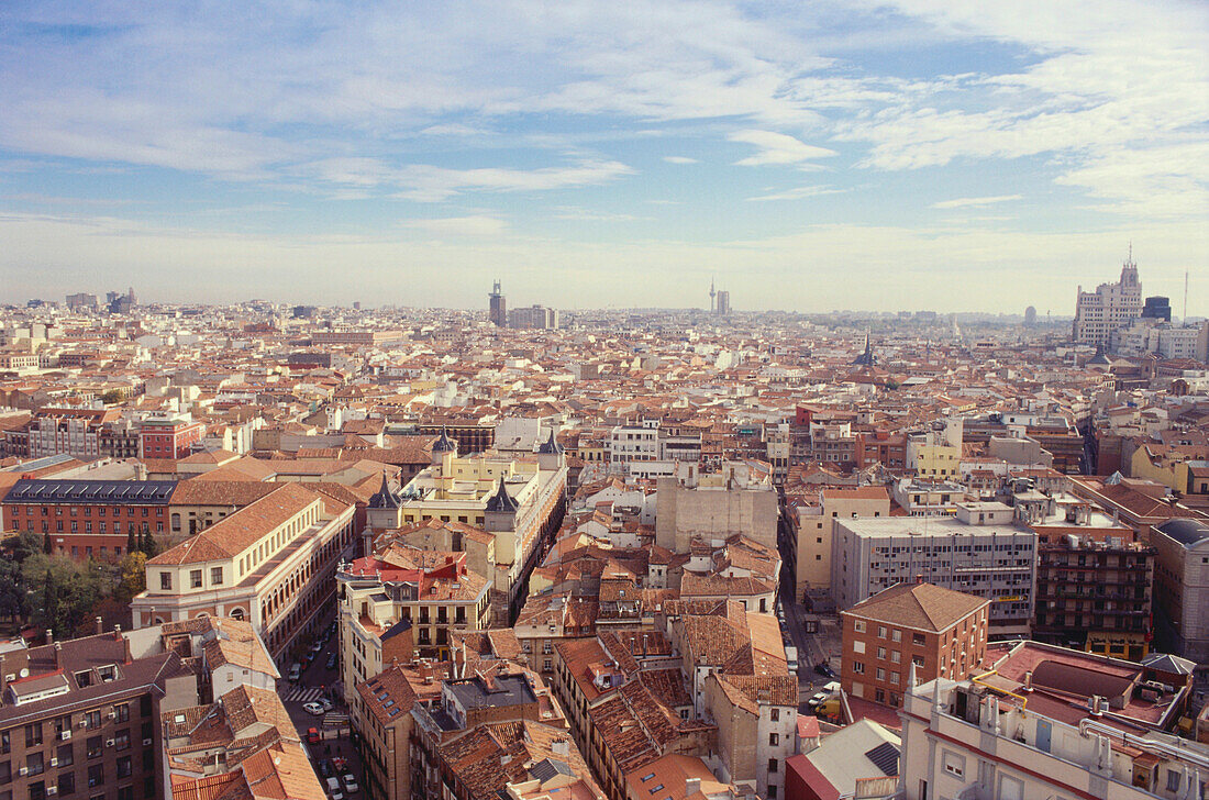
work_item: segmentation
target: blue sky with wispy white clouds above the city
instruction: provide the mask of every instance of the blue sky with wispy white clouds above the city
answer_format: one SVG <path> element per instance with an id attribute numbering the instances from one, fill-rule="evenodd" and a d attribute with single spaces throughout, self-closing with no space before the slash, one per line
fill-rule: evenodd
<path id="1" fill-rule="evenodd" d="M 0 4 L 0 302 L 1209 314 L 1209 4 Z"/>

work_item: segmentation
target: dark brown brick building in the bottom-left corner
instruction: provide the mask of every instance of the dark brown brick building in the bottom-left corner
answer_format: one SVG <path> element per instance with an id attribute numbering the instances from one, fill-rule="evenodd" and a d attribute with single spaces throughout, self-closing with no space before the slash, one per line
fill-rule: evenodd
<path id="1" fill-rule="evenodd" d="M 160 798 L 160 714 L 197 703 L 174 651 L 132 654 L 121 631 L 0 651 L 6 796 Z"/>

